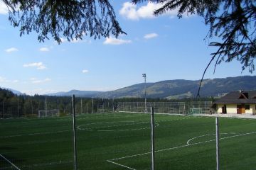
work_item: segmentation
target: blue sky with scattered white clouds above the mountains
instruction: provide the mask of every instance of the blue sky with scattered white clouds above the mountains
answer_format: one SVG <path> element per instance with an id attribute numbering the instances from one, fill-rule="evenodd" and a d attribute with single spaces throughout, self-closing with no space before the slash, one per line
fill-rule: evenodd
<path id="1" fill-rule="evenodd" d="M 208 26 L 203 18 L 176 11 L 154 17 L 156 4 L 130 4 L 111 1 L 120 26 L 127 35 L 63 42 L 53 39 L 38 42 L 36 33 L 19 36 L 18 28 L 8 21 L 0 1 L 0 86 L 26 94 L 58 91 L 110 91 L 147 81 L 201 79 L 213 47 L 203 39 Z M 216 39 L 215 39 L 216 40 Z M 209 40 L 212 41 L 212 40 Z M 206 79 L 250 74 L 237 61 L 208 69 Z"/>

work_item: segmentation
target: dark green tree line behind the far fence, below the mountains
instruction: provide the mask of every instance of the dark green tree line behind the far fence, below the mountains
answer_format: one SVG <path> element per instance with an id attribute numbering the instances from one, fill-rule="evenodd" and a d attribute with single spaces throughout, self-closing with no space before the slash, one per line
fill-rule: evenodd
<path id="1" fill-rule="evenodd" d="M 116 111 L 118 102 L 144 102 L 144 98 L 75 98 L 75 111 L 80 113 L 99 113 L 102 110 Z M 169 100 L 166 98 L 147 98 L 148 102 L 194 101 L 196 98 Z M 213 98 L 200 98 L 213 101 Z M 16 95 L 8 89 L 0 88 L 0 118 L 37 117 L 40 110 L 58 109 L 60 115 L 72 113 L 72 96 Z"/>

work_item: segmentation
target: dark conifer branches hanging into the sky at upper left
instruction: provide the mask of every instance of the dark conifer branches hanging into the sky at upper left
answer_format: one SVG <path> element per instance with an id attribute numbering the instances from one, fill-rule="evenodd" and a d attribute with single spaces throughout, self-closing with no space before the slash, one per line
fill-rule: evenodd
<path id="1" fill-rule="evenodd" d="M 108 0 L 3 0 L 9 8 L 9 20 L 21 35 L 38 33 L 38 40 L 52 36 L 82 39 L 118 36 L 124 33 Z"/>

